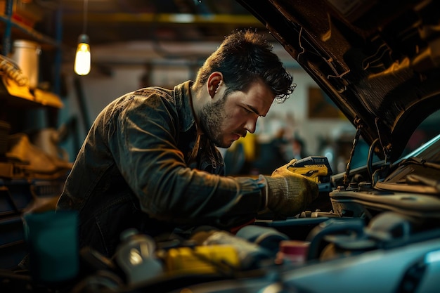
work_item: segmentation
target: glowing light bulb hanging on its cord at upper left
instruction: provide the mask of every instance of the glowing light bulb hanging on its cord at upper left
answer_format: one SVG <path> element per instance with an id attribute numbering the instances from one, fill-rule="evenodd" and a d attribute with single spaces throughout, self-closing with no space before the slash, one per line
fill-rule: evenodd
<path id="1" fill-rule="evenodd" d="M 88 0 L 84 0 L 84 18 L 83 18 L 83 33 L 78 37 L 77 53 L 75 55 L 74 70 L 78 75 L 87 75 L 91 67 L 91 54 L 89 45 L 89 36 L 86 34 L 87 26 L 87 4 Z"/>

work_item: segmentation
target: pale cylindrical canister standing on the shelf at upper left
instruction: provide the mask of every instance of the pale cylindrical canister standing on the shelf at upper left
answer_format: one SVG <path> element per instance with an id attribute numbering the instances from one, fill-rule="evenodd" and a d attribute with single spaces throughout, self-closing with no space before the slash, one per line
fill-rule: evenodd
<path id="1" fill-rule="evenodd" d="M 22 73 L 29 79 L 30 89 L 35 89 L 39 82 L 39 56 L 41 48 L 38 43 L 25 39 L 13 42 L 11 59 L 20 67 Z"/>

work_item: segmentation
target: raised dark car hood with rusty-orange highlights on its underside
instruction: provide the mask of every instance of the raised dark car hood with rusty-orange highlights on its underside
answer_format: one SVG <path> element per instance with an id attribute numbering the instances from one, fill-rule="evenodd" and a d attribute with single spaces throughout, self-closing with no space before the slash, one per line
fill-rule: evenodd
<path id="1" fill-rule="evenodd" d="M 297 60 L 375 153 L 394 162 L 440 108 L 436 1 L 237 0 Z"/>

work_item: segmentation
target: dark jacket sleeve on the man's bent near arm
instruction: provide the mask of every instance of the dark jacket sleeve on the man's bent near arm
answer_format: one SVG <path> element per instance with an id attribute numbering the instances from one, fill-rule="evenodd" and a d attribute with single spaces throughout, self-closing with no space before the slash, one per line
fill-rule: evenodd
<path id="1" fill-rule="evenodd" d="M 171 97 L 134 96 L 108 136 L 116 164 L 141 203 L 156 219 L 179 224 L 232 227 L 261 209 L 258 179 L 190 169 L 177 147 L 179 119 Z"/>

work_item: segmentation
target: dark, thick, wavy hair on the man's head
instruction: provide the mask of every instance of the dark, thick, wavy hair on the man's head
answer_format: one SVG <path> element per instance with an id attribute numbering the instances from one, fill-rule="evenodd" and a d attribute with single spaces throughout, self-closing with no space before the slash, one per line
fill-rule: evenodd
<path id="1" fill-rule="evenodd" d="M 200 89 L 207 83 L 209 74 L 219 71 L 227 86 L 226 95 L 247 91 L 253 82 L 261 79 L 275 93 L 276 101 L 283 103 L 296 84 L 292 84 L 292 75 L 272 50 L 273 46 L 257 32 L 233 32 L 202 65 L 193 88 Z"/>

